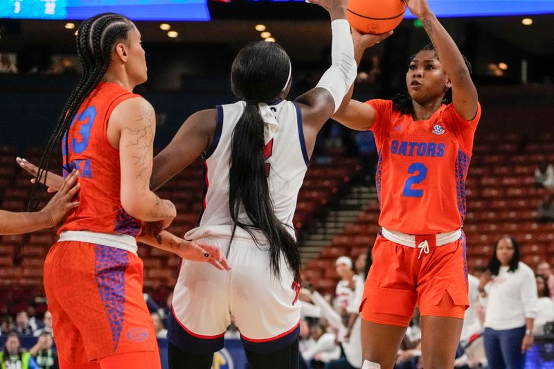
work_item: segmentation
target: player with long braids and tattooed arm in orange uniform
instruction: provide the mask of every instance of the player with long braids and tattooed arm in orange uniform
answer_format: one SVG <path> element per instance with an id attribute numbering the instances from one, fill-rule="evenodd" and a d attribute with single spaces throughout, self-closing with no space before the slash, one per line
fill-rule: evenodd
<path id="1" fill-rule="evenodd" d="M 215 246 L 158 233 L 176 212 L 148 187 L 155 114 L 132 93 L 147 79 L 139 30 L 122 15 L 96 15 L 81 24 L 77 51 L 83 74 L 48 142 L 30 199 L 32 207 L 51 153 L 62 143 L 64 174 L 80 172 L 80 206 L 60 227 L 44 263 L 60 368 L 160 368 L 136 239 L 218 269 L 226 262 Z"/>

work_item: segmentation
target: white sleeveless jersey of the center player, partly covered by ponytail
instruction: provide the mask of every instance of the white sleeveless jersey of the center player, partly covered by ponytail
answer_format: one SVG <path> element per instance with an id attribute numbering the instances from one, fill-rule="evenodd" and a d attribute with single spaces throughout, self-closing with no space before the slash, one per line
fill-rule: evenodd
<path id="1" fill-rule="evenodd" d="M 204 210 L 196 228 L 188 231 L 185 238 L 196 240 L 202 237 L 231 237 L 233 221 L 229 213 L 229 164 L 231 159 L 231 136 L 242 116 L 244 101 L 217 106 L 218 122 L 211 147 L 204 155 Z M 269 193 L 275 215 L 289 226 L 294 235 L 292 217 L 296 209 L 298 190 L 302 186 L 309 163 L 301 111 L 298 105 L 287 100 L 269 104 L 278 122 L 278 129 L 266 144 L 266 163 L 269 165 Z M 234 163 L 240 165 L 240 163 Z M 244 210 L 240 211 L 241 222 L 251 224 Z M 261 232 L 258 240 L 265 241 Z M 251 240 L 251 235 L 237 227 L 235 239 Z"/>

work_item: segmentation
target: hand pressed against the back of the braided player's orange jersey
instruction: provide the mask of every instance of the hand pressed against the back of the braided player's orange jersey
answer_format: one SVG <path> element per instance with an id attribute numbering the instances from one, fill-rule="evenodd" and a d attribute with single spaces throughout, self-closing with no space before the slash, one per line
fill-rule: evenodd
<path id="1" fill-rule="evenodd" d="M 50 217 L 51 224 L 49 224 L 49 226 L 53 227 L 59 224 L 69 210 L 79 206 L 79 201 L 72 201 L 73 197 L 77 195 L 80 189 L 80 183 L 77 183 L 78 175 L 79 172 L 73 170 L 73 172 L 62 181 L 60 190 L 58 190 L 54 197 L 48 201 L 48 204 L 40 210 L 41 213 Z"/>

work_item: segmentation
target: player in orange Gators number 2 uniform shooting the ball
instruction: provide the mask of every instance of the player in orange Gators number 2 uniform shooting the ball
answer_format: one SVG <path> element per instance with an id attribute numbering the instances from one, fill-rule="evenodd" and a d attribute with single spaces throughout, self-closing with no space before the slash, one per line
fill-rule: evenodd
<path id="1" fill-rule="evenodd" d="M 452 368 L 467 300 L 465 177 L 481 116 L 470 67 L 427 0 L 407 0 L 432 46 L 412 57 L 410 98 L 350 100 L 334 114 L 375 134 L 379 233 L 360 311 L 364 369 L 393 368 L 417 303 L 425 369 Z M 364 38 L 355 37 L 357 61 Z M 452 89 L 452 103 L 443 104 Z"/>

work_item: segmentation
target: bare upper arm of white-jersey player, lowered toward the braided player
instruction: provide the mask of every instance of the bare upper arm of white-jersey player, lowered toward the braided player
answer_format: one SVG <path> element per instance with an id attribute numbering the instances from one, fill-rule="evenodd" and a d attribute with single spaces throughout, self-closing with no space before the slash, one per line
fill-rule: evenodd
<path id="1" fill-rule="evenodd" d="M 185 120 L 169 145 L 154 157 L 150 188 L 157 190 L 206 151 L 216 126 L 216 109 L 197 111 Z"/>

